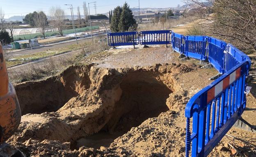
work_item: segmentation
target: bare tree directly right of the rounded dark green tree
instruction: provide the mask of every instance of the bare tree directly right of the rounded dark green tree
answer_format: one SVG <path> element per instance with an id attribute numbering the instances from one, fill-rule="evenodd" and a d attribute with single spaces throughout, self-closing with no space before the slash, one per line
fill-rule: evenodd
<path id="1" fill-rule="evenodd" d="M 46 14 L 43 11 L 39 11 L 36 15 L 34 15 L 34 25 L 39 29 L 40 33 L 43 34 L 43 38 L 45 39 L 45 30 L 48 26 Z"/>

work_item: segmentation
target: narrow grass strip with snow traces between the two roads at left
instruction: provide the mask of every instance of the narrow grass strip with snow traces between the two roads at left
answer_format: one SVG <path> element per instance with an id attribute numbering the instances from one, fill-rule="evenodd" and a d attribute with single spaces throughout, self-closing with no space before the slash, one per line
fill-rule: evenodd
<path id="1" fill-rule="evenodd" d="M 15 65 L 39 60 L 42 58 L 58 55 L 60 53 L 66 53 L 66 52 L 75 51 L 75 50 L 79 50 L 79 49 L 81 49 L 81 44 L 78 44 L 78 45 L 73 44 L 73 45 L 65 46 L 65 47 L 58 48 L 58 49 L 41 51 L 41 52 L 37 52 L 37 53 L 33 53 L 33 54 L 20 55 L 17 57 L 9 58 L 8 60 L 6 60 L 6 64 L 7 64 L 7 67 L 15 66 Z"/>

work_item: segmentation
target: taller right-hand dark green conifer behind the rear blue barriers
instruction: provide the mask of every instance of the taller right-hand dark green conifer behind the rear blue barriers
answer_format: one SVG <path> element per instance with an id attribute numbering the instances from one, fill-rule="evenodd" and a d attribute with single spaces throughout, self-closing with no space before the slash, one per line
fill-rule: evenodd
<path id="1" fill-rule="evenodd" d="M 118 25 L 119 31 L 135 31 L 137 30 L 136 20 L 133 18 L 133 12 L 130 6 L 125 2 L 122 7 L 121 16 Z"/>

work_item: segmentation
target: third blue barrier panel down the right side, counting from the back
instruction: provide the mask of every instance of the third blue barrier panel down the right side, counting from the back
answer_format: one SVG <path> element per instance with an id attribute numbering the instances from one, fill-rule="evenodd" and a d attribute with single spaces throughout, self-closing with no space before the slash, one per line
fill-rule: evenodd
<path id="1" fill-rule="evenodd" d="M 224 73 L 225 54 L 223 52 L 225 49 L 226 42 L 212 37 L 208 38 L 208 61 L 221 74 Z"/>

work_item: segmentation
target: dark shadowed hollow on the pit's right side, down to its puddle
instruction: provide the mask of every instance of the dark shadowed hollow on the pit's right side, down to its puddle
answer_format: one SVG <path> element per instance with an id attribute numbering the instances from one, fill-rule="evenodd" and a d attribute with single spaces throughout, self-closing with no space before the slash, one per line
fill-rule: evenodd
<path id="1" fill-rule="evenodd" d="M 172 91 L 156 79 L 159 75 L 150 71 L 127 73 L 119 85 L 121 97 L 114 104 L 109 122 L 98 133 L 77 140 L 72 147 L 109 147 L 115 138 L 132 127 L 168 111 L 166 101 Z"/>

